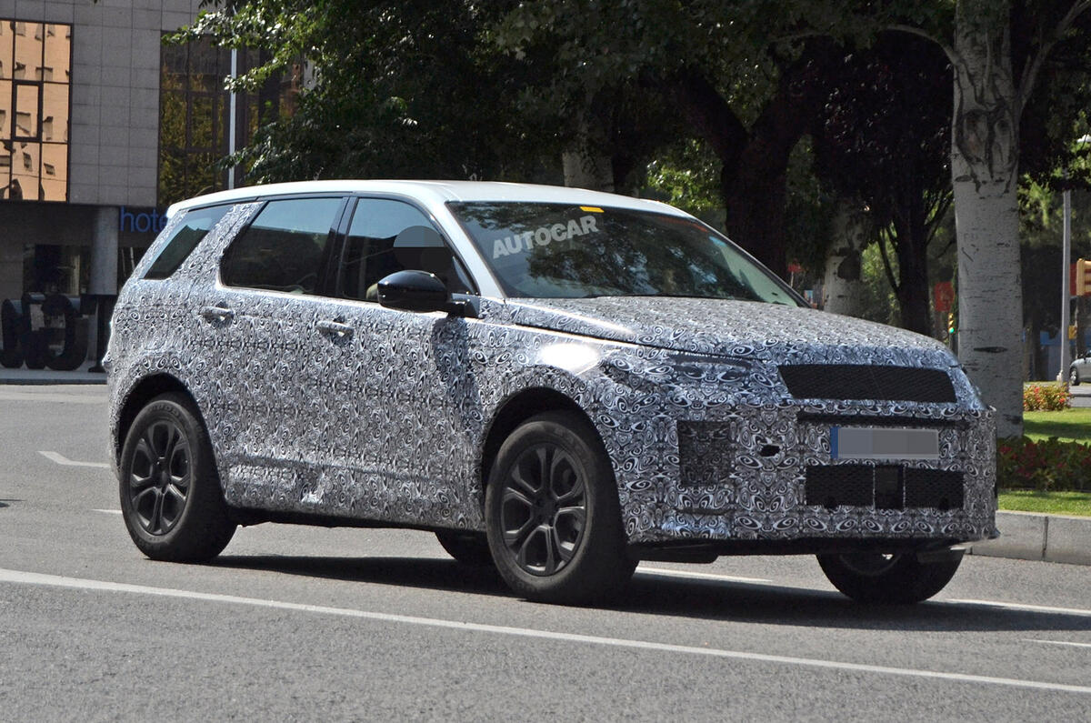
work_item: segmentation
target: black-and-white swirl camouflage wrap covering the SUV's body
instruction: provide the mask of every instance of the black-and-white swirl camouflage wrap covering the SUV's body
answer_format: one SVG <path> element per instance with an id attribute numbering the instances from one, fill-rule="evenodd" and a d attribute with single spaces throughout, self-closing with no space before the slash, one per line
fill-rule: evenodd
<path id="1" fill-rule="evenodd" d="M 226 286 L 225 250 L 261 208 L 236 202 L 168 278 L 147 278 L 176 213 L 125 284 L 108 353 L 115 464 L 134 400 L 169 378 L 203 417 L 232 507 L 480 531 L 493 422 L 550 390 L 601 437 L 633 544 L 994 531 L 992 411 L 934 340 L 755 301 L 482 294 L 464 318 Z M 789 389 L 788 367 L 818 367 L 822 387 L 819 365 L 844 374 L 843 398 Z M 892 391 L 851 393 L 875 368 Z M 934 430 L 938 454 L 839 454 L 838 430 L 859 427 Z"/>

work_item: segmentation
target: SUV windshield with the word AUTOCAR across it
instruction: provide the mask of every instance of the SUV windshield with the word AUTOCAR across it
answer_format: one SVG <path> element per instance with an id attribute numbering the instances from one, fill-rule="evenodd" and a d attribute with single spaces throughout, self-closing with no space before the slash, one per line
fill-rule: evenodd
<path id="1" fill-rule="evenodd" d="M 692 218 L 559 203 L 448 205 L 507 296 L 799 304 L 776 276 Z"/>

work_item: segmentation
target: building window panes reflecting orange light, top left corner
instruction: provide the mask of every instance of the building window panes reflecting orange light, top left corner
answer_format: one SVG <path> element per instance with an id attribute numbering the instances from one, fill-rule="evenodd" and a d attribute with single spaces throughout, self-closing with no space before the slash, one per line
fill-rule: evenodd
<path id="1" fill-rule="evenodd" d="M 0 20 L 0 198 L 67 201 L 72 26 Z"/>

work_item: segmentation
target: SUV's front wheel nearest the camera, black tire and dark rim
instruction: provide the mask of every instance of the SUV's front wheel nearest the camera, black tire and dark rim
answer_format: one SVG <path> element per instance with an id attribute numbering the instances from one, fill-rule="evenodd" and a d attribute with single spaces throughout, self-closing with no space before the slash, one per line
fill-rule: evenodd
<path id="1" fill-rule="evenodd" d="M 504 441 L 485 488 L 485 528 L 496 569 L 528 600 L 607 601 L 636 568 L 610 461 L 572 413 L 531 417 Z"/>

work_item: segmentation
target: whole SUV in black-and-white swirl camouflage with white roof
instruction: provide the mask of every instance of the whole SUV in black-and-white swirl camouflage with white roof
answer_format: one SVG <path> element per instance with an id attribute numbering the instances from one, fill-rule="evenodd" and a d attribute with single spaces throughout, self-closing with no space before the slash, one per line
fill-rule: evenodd
<path id="1" fill-rule="evenodd" d="M 432 530 L 518 594 L 638 560 L 815 554 L 916 602 L 995 534 L 992 411 L 938 342 L 807 307 L 676 209 L 315 181 L 170 208 L 124 285 L 110 458 L 136 546 Z"/>

